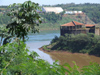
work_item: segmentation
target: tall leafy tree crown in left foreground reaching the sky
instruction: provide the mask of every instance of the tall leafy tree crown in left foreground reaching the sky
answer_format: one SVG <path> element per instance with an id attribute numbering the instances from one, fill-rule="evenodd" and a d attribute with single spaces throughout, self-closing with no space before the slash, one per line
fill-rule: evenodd
<path id="1" fill-rule="evenodd" d="M 16 35 L 16 37 L 25 41 L 25 36 L 30 31 L 39 32 L 37 27 L 42 22 L 42 18 L 36 12 L 39 9 L 38 4 L 26 1 L 23 4 L 14 3 L 9 7 L 12 7 L 8 13 L 8 16 L 12 18 L 12 22 L 7 25 L 7 29 L 11 35 Z"/>

